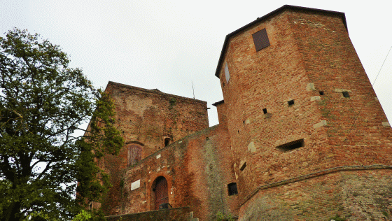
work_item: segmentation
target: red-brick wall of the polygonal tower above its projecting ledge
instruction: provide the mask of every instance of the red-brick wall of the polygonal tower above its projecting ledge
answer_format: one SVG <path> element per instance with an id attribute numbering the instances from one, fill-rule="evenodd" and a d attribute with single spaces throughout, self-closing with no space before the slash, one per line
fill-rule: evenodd
<path id="1" fill-rule="evenodd" d="M 256 52 L 252 34 L 264 28 L 270 45 Z M 225 64 L 230 71 L 228 83 Z M 249 205 L 243 204 L 247 199 L 266 197 L 257 191 L 263 185 L 337 166 L 392 161 L 391 127 L 341 15 L 281 10 L 260 20 L 230 38 L 220 80 L 241 211 L 248 210 Z M 299 139 L 304 141 L 301 148 L 287 152 L 276 148 Z M 342 179 L 334 178 L 334 182 Z M 283 191 L 283 187 L 271 188 Z M 330 191 L 342 194 L 334 188 Z M 323 201 L 332 199 L 325 196 Z M 274 207 L 260 209 L 265 213 Z M 300 217 L 295 209 L 286 211 L 291 212 Z M 240 220 L 246 220 L 244 214 Z"/>

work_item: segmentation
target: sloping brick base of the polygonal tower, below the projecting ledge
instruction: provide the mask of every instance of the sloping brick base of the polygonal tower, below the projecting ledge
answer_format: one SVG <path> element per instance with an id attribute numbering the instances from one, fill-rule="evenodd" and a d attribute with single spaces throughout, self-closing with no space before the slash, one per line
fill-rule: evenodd
<path id="1" fill-rule="evenodd" d="M 240 220 L 391 220 L 390 169 L 347 170 L 260 189 Z"/>

